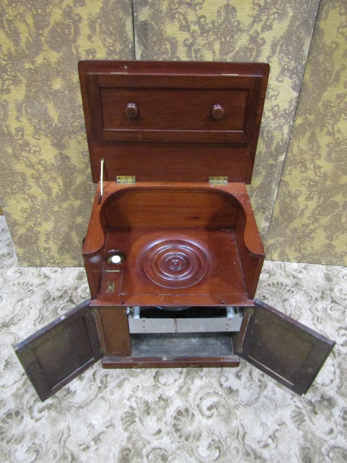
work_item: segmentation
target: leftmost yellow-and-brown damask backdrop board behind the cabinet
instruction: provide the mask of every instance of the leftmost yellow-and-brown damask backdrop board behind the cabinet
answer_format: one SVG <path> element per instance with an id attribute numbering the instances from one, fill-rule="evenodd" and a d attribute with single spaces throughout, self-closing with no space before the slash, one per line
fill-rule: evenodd
<path id="1" fill-rule="evenodd" d="M 81 265 L 94 186 L 77 63 L 134 59 L 131 0 L 0 4 L 0 198 L 22 265 Z"/>

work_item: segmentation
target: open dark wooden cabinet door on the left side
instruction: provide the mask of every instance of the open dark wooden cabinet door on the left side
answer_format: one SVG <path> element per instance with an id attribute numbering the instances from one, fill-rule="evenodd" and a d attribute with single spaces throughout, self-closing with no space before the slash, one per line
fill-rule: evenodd
<path id="1" fill-rule="evenodd" d="M 89 300 L 13 346 L 42 401 L 101 358 Z"/>

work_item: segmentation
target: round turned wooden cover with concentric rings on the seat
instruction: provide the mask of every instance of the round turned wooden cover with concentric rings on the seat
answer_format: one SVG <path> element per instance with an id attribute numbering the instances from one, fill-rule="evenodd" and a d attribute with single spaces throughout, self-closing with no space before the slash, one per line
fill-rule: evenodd
<path id="1" fill-rule="evenodd" d="M 183 240 L 167 240 L 152 246 L 143 258 L 143 270 L 164 288 L 188 288 L 206 274 L 204 251 Z"/>

